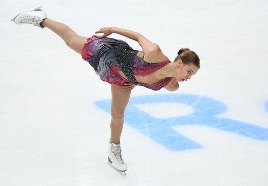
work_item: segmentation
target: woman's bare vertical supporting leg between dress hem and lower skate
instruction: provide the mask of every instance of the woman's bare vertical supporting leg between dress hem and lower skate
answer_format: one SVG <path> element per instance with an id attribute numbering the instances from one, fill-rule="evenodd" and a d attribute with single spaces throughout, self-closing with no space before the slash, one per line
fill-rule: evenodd
<path id="1" fill-rule="evenodd" d="M 119 143 L 124 124 L 125 108 L 128 105 L 131 91 L 124 90 L 121 86 L 111 86 L 111 138 L 110 142 Z"/>

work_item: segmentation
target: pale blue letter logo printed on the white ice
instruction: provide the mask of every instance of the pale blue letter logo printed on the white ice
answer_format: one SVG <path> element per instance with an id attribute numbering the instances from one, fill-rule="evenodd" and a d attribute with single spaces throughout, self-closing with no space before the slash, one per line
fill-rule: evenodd
<path id="1" fill-rule="evenodd" d="M 191 114 L 157 119 L 139 110 L 136 105 L 149 103 L 180 103 L 190 105 Z M 97 101 L 96 105 L 110 112 L 111 100 Z M 268 108 L 268 102 L 266 103 Z M 268 140 L 268 129 L 242 121 L 217 117 L 227 110 L 222 102 L 202 95 L 192 94 L 156 94 L 131 97 L 125 111 L 125 123 L 142 134 L 172 151 L 198 149 L 201 145 L 184 136 L 172 127 L 182 125 L 201 125 L 243 135 L 255 140 Z"/>

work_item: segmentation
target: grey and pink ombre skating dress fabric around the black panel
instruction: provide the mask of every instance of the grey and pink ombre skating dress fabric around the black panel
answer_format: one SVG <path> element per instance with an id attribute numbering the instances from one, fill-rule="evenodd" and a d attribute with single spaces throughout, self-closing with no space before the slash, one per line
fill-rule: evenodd
<path id="1" fill-rule="evenodd" d="M 136 53 L 138 51 L 133 50 L 125 41 L 110 37 L 104 37 L 99 39 L 98 36 L 92 36 L 88 38 L 87 41 L 88 42 L 84 44 L 84 47 L 82 49 L 82 58 L 89 62 L 89 64 L 94 68 L 96 74 L 100 76 L 100 79 L 102 81 L 106 81 L 112 85 L 117 86 L 123 86 L 124 83 L 132 83 L 157 91 L 168 85 L 172 79 L 172 77 L 169 77 L 153 84 L 138 83 L 135 81 L 135 79 L 126 79 L 119 74 L 119 71 L 122 69 L 120 69 L 117 61 L 118 56 L 126 55 L 126 52 L 131 53 L 131 55 L 135 54 L 133 58 L 129 59 L 132 61 L 124 62 L 133 64 L 133 68 L 130 68 L 130 70 L 133 71 L 133 73 L 137 76 L 146 76 L 152 74 L 153 72 L 170 63 L 171 61 L 163 61 L 160 63 L 147 63 L 142 57 L 136 56 Z M 115 50 L 115 48 L 118 49 L 126 47 L 128 50 L 125 50 L 124 53 L 119 52 L 115 55 L 114 51 L 118 51 Z M 124 56 L 122 56 L 122 58 L 124 59 Z M 120 66 L 122 68 L 122 64 Z M 124 69 L 122 71 L 125 74 L 128 69 Z"/>

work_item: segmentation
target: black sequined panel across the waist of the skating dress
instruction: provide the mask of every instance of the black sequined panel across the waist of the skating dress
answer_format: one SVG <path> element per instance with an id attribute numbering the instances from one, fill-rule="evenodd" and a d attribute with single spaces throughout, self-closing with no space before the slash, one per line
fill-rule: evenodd
<path id="1" fill-rule="evenodd" d="M 118 46 L 113 48 L 113 53 L 120 70 L 126 75 L 127 79 L 131 82 L 137 82 L 134 76 L 133 65 L 138 51 L 125 46 Z"/>

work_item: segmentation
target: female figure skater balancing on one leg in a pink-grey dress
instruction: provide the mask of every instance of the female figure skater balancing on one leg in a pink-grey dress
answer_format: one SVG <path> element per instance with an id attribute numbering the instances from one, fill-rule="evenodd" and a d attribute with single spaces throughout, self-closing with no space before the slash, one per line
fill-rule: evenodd
<path id="1" fill-rule="evenodd" d="M 102 36 L 81 37 L 67 25 L 48 19 L 40 8 L 23 12 L 12 20 L 17 24 L 29 23 L 49 28 L 67 46 L 81 54 L 101 80 L 111 84 L 112 119 L 108 164 L 125 175 L 127 165 L 121 156 L 120 136 L 131 90 L 136 85 L 141 85 L 152 90 L 164 87 L 176 91 L 179 88 L 178 82 L 191 79 L 199 70 L 199 57 L 189 49 L 180 49 L 174 62 L 171 62 L 157 44 L 136 32 L 117 27 L 104 27 L 96 31 L 96 34 L 103 33 Z M 112 33 L 137 41 L 142 51 L 133 50 L 122 40 L 107 37 Z"/>

